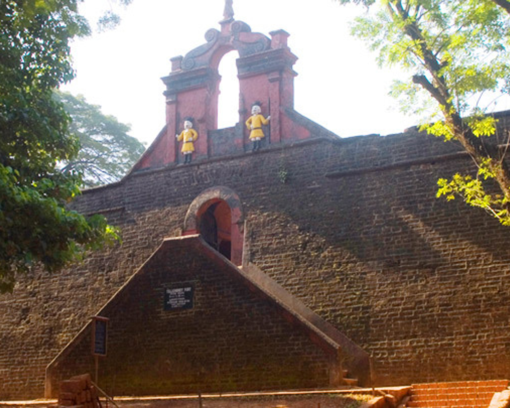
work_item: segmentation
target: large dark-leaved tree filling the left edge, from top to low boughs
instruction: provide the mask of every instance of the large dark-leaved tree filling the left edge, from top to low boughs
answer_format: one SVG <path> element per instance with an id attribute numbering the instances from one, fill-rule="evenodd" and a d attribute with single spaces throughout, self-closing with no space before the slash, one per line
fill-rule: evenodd
<path id="1" fill-rule="evenodd" d="M 53 90 L 73 77 L 69 41 L 88 32 L 77 1 L 0 2 L 0 292 L 34 266 L 54 271 L 116 239 L 104 217 L 66 207 L 81 176 L 57 167 L 79 143 Z"/>

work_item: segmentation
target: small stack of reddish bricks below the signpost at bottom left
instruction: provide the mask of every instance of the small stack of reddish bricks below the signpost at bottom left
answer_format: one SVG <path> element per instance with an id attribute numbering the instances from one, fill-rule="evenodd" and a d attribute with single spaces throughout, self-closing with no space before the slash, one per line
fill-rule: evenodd
<path id="1" fill-rule="evenodd" d="M 59 407 L 99 408 L 97 390 L 90 374 L 82 374 L 60 382 Z"/>

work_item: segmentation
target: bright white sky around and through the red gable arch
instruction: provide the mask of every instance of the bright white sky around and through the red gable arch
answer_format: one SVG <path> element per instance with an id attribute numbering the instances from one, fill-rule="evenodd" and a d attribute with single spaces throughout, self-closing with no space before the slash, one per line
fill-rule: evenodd
<path id="1" fill-rule="evenodd" d="M 113 0 L 111 0 L 113 1 Z M 85 0 L 81 12 L 94 21 L 105 0 Z M 219 29 L 224 0 L 133 0 L 118 9 L 120 25 L 75 40 L 71 45 L 76 78 L 63 89 L 83 94 L 104 113 L 131 124 L 131 135 L 149 145 L 165 125 L 165 86 L 170 58 L 185 55 Z M 117 9 L 116 9 L 117 10 Z M 350 36 L 349 22 L 365 12 L 334 0 L 234 0 L 234 18 L 253 32 L 283 29 L 299 58 L 294 65 L 295 109 L 341 137 L 402 132 L 418 118 L 399 113 L 388 95 L 395 79 L 409 73 L 380 69 L 376 55 Z M 237 119 L 235 53 L 220 63 L 219 127 Z"/>

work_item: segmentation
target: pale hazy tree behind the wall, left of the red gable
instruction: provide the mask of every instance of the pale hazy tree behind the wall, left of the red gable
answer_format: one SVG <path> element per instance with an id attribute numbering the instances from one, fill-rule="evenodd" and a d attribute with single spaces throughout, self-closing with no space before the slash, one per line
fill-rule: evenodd
<path id="1" fill-rule="evenodd" d="M 83 95 L 56 92 L 56 97 L 71 117 L 69 130 L 81 145 L 78 155 L 65 161 L 62 171 L 82 173 L 87 187 L 112 183 L 126 174 L 145 150 L 142 143 L 127 134 L 130 126 L 103 114 Z"/>

